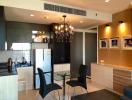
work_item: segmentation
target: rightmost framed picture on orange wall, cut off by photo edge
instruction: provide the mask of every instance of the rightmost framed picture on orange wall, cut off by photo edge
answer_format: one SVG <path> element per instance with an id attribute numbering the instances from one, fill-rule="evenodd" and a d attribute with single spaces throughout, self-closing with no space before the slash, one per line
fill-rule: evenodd
<path id="1" fill-rule="evenodd" d="M 132 37 L 124 37 L 122 39 L 122 49 L 124 50 L 132 50 Z"/>

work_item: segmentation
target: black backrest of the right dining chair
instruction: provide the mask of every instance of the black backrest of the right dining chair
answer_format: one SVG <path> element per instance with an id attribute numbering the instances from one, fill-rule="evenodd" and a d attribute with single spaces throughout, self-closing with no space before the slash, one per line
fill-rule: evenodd
<path id="1" fill-rule="evenodd" d="M 87 89 L 86 75 L 87 75 L 87 66 L 81 64 L 79 67 L 78 81 L 82 84 L 84 88 Z"/>

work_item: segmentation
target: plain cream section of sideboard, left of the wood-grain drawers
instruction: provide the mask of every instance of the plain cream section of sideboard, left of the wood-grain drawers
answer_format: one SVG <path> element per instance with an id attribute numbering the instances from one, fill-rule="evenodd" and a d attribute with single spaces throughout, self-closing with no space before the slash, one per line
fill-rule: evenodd
<path id="1" fill-rule="evenodd" d="M 113 89 L 113 68 L 91 64 L 91 79 L 104 88 Z"/>

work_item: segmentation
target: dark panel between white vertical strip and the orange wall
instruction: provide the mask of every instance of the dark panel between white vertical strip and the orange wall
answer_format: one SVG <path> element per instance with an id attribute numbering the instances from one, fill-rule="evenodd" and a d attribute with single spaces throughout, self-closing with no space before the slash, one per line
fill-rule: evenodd
<path id="1" fill-rule="evenodd" d="M 85 34 L 85 61 L 88 66 L 87 75 L 91 76 L 91 63 L 97 62 L 97 34 Z"/>

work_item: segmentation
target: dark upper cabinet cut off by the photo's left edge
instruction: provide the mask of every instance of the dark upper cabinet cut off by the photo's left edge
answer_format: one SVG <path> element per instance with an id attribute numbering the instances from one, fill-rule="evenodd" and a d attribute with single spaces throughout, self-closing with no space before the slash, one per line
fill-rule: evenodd
<path id="1" fill-rule="evenodd" d="M 0 6 L 0 50 L 5 49 L 6 32 L 5 32 L 5 18 L 4 7 Z"/>

